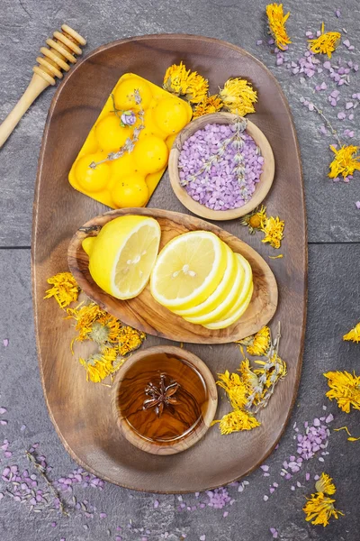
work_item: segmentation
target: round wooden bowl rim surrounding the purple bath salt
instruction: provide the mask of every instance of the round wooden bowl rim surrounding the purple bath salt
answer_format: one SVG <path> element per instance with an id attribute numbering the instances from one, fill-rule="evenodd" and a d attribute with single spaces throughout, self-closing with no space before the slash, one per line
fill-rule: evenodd
<path id="1" fill-rule="evenodd" d="M 234 218 L 247 215 L 260 205 L 273 184 L 275 160 L 270 143 L 267 141 L 264 133 L 255 124 L 247 120 L 247 133 L 251 135 L 257 143 L 257 146 L 260 148 L 264 157 L 263 172 L 260 175 L 260 181 L 257 183 L 257 188 L 255 189 L 253 197 L 251 197 L 244 206 L 239 206 L 238 208 L 212 210 L 195 201 L 193 197 L 189 196 L 185 188 L 181 186 L 178 162 L 180 152 L 182 151 L 186 139 L 197 132 L 197 130 L 204 128 L 206 124 L 234 124 L 236 119 L 237 115 L 231 115 L 231 113 L 214 113 L 212 115 L 201 116 L 184 127 L 184 130 L 177 135 L 173 148 L 170 151 L 168 173 L 175 196 L 184 206 L 186 206 L 186 208 L 191 210 L 193 214 L 202 216 L 202 218 L 207 218 L 208 220 L 233 220 Z"/>

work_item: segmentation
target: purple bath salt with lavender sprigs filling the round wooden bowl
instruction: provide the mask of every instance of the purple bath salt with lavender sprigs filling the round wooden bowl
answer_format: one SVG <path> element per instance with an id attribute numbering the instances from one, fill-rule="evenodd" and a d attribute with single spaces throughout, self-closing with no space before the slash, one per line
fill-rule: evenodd
<path id="1" fill-rule="evenodd" d="M 264 157 L 246 124 L 244 119 L 206 124 L 186 139 L 179 155 L 179 177 L 194 201 L 211 210 L 229 210 L 253 197 Z"/>

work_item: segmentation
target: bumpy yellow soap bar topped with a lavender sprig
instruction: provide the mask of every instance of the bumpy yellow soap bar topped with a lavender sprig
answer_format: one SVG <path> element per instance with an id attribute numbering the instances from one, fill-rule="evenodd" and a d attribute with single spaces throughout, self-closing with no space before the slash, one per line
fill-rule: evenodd
<path id="1" fill-rule="evenodd" d="M 179 97 L 139 75 L 122 75 L 73 163 L 71 186 L 112 208 L 146 206 L 192 115 Z M 120 158 L 107 160 L 124 145 Z"/>

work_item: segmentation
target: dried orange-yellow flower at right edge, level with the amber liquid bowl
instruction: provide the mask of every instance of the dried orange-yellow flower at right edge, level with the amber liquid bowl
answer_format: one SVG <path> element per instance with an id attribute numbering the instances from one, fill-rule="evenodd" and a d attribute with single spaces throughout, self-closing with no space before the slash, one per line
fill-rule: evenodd
<path id="1" fill-rule="evenodd" d="M 326 396 L 338 401 L 338 407 L 350 413 L 351 406 L 360 409 L 360 376 L 347 371 L 329 371 L 324 373 L 330 390 Z"/>

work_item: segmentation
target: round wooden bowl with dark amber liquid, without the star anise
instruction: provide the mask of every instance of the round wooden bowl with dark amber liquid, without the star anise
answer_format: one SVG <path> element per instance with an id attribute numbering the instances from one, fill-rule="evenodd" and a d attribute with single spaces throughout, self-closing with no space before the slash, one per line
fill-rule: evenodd
<path id="1" fill-rule="evenodd" d="M 148 372 L 143 370 L 145 361 Z M 157 368 L 151 371 L 151 366 Z M 169 374 L 169 381 L 181 382 L 173 396 L 182 392 L 182 398 L 170 406 L 172 413 L 165 406 L 158 416 L 154 408 L 144 409 L 143 402 L 148 399 L 145 387 L 149 381 L 157 385 L 161 373 Z M 217 406 L 216 384 L 206 364 L 193 353 L 172 345 L 149 347 L 131 355 L 112 386 L 112 412 L 121 434 L 150 454 L 176 454 L 196 444 L 211 426 Z M 184 418 L 186 429 L 181 436 L 175 436 L 175 428 L 184 426 Z"/>

